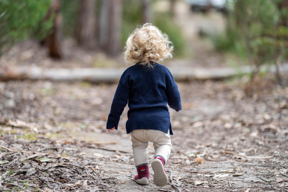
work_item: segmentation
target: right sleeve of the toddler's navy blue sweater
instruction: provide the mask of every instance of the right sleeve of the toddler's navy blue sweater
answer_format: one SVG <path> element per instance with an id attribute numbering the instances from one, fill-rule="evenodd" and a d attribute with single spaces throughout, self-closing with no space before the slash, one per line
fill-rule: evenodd
<path id="1" fill-rule="evenodd" d="M 166 75 L 166 96 L 168 99 L 168 105 L 172 109 L 179 111 L 182 109 L 181 97 L 178 90 L 178 86 L 175 83 L 174 77 L 171 72 L 167 69 L 168 73 Z"/>

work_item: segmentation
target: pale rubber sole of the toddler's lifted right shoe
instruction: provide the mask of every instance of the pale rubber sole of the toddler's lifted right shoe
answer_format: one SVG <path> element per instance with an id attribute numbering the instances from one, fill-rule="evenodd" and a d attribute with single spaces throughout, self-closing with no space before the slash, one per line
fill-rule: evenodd
<path id="1" fill-rule="evenodd" d="M 168 175 L 164 171 L 164 166 L 159 159 L 152 161 L 152 169 L 154 171 L 153 181 L 155 185 L 162 187 L 168 184 Z"/>

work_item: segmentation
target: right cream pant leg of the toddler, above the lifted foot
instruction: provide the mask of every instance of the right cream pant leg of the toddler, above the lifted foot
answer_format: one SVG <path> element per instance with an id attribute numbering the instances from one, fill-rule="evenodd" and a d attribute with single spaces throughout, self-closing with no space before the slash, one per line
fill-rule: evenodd
<path id="1" fill-rule="evenodd" d="M 171 137 L 169 131 L 167 134 L 162 131 L 160 132 L 161 133 L 159 134 L 157 140 L 153 142 L 155 149 L 154 157 L 161 155 L 165 159 L 165 162 L 167 162 L 172 149 Z"/>

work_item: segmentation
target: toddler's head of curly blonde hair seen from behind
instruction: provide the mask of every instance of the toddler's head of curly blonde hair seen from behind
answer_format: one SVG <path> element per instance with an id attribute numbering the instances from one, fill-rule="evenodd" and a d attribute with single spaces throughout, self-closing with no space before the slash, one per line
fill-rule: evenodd
<path id="1" fill-rule="evenodd" d="M 153 63 L 172 58 L 173 44 L 168 35 L 151 23 L 137 27 L 128 37 L 124 51 L 125 61 L 153 67 Z"/>

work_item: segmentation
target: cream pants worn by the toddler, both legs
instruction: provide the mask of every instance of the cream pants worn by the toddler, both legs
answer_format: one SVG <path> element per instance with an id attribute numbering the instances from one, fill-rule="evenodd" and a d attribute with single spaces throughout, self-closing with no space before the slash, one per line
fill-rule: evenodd
<path id="1" fill-rule="evenodd" d="M 153 142 L 154 157 L 161 155 L 168 160 L 172 149 L 170 133 L 153 129 L 137 129 L 131 132 L 132 150 L 135 166 L 148 164 L 148 141 Z"/>

